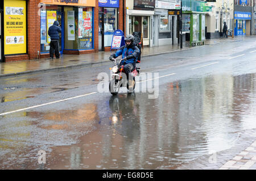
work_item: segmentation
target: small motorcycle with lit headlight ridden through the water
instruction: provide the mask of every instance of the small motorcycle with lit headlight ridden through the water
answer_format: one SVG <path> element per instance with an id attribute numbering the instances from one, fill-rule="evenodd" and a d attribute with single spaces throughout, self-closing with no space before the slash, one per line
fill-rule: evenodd
<path id="1" fill-rule="evenodd" d="M 123 65 L 120 65 L 122 60 L 125 60 L 125 59 L 123 58 L 119 62 L 115 58 L 112 59 L 112 62 L 114 62 L 114 66 L 113 68 L 110 68 L 110 69 L 112 70 L 113 74 L 112 74 L 112 79 L 109 82 L 109 91 L 112 95 L 117 95 L 120 87 L 126 86 L 127 89 L 129 90 L 128 77 L 124 72 Z M 133 90 L 135 89 L 135 84 L 136 84 L 135 77 L 139 75 L 139 69 L 141 68 L 135 66 L 135 69 L 131 72 L 131 75 L 133 76 L 133 81 L 134 81 Z M 126 79 L 123 78 L 124 75 Z"/>

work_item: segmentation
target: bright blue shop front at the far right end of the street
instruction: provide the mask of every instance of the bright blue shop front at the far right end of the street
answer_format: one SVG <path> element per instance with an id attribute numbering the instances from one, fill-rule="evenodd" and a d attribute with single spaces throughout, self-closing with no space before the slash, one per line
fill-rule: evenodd
<path id="1" fill-rule="evenodd" d="M 251 12 L 234 12 L 234 35 L 250 35 Z"/>

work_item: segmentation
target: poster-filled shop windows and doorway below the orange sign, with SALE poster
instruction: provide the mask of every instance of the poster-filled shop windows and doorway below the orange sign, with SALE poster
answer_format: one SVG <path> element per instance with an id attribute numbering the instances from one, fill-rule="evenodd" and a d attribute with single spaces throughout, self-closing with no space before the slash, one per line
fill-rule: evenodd
<path id="1" fill-rule="evenodd" d="M 63 15 L 64 10 L 64 15 Z M 60 33 L 60 50 L 93 48 L 93 12 L 92 7 L 46 5 L 41 11 L 41 52 L 49 52 L 50 38 L 47 35 L 49 26 L 58 20 L 64 35 Z M 63 24 L 61 21 L 63 20 Z M 61 45 L 61 36 L 64 42 Z M 64 47 L 63 47 L 64 45 Z"/>

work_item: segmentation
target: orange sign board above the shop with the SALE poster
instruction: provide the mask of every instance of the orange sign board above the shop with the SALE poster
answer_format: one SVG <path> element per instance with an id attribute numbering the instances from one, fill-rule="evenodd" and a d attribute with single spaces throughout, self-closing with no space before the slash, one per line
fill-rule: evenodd
<path id="1" fill-rule="evenodd" d="M 40 2 L 46 5 L 65 5 L 65 6 L 89 6 L 95 7 L 94 0 L 41 0 Z"/>

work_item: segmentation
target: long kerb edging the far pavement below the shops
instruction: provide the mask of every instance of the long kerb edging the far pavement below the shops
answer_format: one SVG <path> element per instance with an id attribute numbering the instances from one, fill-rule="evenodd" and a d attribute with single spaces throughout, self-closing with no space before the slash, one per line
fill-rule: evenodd
<path id="1" fill-rule="evenodd" d="M 201 47 L 201 46 L 199 46 Z M 190 50 L 190 49 L 195 49 L 198 47 L 192 47 L 189 49 L 179 49 L 179 50 L 173 50 L 171 52 L 162 52 L 162 53 L 155 53 L 155 54 L 146 54 L 144 56 L 141 57 L 152 57 L 152 56 L 157 56 L 159 54 L 166 54 L 166 53 L 175 53 L 175 52 L 180 52 L 180 51 L 184 51 L 184 50 Z M 94 65 L 94 64 L 103 64 L 109 62 L 109 60 L 106 61 L 100 61 L 100 62 L 90 62 L 90 63 L 84 63 L 84 64 L 76 64 L 76 65 L 68 65 L 68 66 L 57 66 L 55 68 L 47 68 L 47 69 L 39 69 L 39 70 L 28 70 L 28 71 L 20 71 L 17 73 L 10 73 L 10 74 L 1 74 L 0 78 L 2 77 L 11 77 L 11 76 L 15 76 L 15 75 L 24 75 L 24 74 L 32 74 L 32 73 L 39 73 L 39 72 L 44 72 L 44 71 L 51 71 L 51 70 L 60 70 L 60 69 L 69 69 L 69 68 L 77 68 L 77 67 L 82 67 L 82 66 L 89 66 L 89 65 Z"/>

